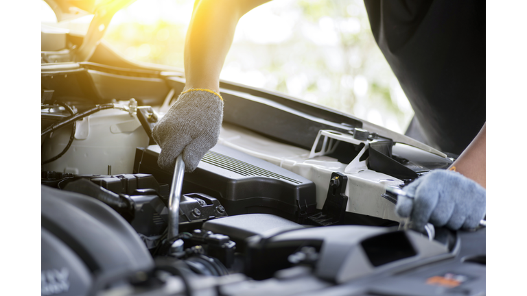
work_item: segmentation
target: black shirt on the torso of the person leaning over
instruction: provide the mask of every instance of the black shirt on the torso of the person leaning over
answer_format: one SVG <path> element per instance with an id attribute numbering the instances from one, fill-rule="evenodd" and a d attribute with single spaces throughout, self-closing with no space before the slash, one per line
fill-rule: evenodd
<path id="1" fill-rule="evenodd" d="M 373 36 L 415 112 L 407 134 L 461 153 L 486 117 L 485 1 L 364 4 Z"/>

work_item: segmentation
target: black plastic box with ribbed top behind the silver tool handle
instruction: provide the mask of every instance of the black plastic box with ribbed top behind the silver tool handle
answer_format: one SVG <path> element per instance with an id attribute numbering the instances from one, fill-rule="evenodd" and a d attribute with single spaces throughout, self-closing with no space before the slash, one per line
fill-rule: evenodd
<path id="1" fill-rule="evenodd" d="M 150 173 L 170 184 L 172 173 L 157 165 L 161 149 L 137 148 L 135 173 Z M 227 214 L 268 213 L 302 222 L 316 211 L 315 184 L 305 177 L 246 153 L 216 145 L 196 171 L 185 173 L 183 193 L 205 193 L 220 200 Z"/>

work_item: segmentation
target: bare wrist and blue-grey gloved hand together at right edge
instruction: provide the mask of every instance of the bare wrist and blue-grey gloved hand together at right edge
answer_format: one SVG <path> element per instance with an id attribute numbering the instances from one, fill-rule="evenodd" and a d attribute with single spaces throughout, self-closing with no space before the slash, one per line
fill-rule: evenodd
<path id="1" fill-rule="evenodd" d="M 455 171 L 437 169 L 404 188 L 413 198 L 399 195 L 395 210 L 400 217 L 410 217 L 410 227 L 422 230 L 426 223 L 452 230 L 478 227 L 487 212 L 486 125 L 452 164 Z"/>

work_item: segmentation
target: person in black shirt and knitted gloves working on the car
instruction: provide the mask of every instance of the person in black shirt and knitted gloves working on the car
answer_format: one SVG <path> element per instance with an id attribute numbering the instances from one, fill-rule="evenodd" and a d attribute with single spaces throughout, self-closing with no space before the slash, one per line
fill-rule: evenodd
<path id="1" fill-rule="evenodd" d="M 159 166 L 183 153 L 194 171 L 217 142 L 223 114 L 220 71 L 239 18 L 269 0 L 197 0 L 185 40 L 185 90 L 154 127 Z M 364 0 L 373 36 L 415 116 L 406 134 L 460 154 L 406 186 L 396 212 L 425 223 L 473 229 L 485 216 L 484 1 Z M 467 147 L 468 146 L 468 147 Z"/>

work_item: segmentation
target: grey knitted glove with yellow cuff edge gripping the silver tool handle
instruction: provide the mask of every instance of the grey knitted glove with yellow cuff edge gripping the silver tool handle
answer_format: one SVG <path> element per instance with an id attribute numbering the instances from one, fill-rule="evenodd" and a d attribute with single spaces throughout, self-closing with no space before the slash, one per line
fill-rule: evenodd
<path id="1" fill-rule="evenodd" d="M 183 153 L 185 171 L 194 171 L 201 158 L 218 143 L 223 119 L 223 99 L 212 90 L 190 89 L 154 126 L 152 136 L 161 147 L 157 164 L 174 170 L 176 158 Z"/>

